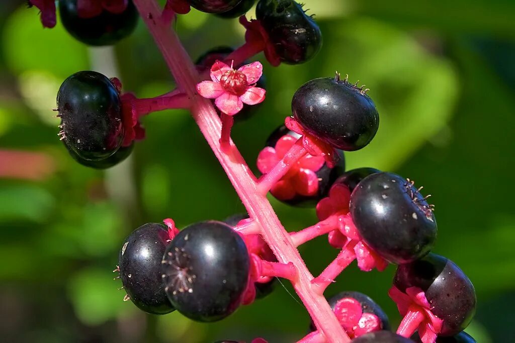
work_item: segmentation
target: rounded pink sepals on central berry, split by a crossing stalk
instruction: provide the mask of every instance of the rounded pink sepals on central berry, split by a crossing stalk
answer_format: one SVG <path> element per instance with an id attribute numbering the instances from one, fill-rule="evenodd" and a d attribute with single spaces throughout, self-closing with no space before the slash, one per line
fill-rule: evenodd
<path id="1" fill-rule="evenodd" d="M 296 142 L 297 138 L 286 134 L 277 141 L 276 146 L 268 146 L 261 150 L 256 162 L 261 173 L 269 173 Z M 296 195 L 312 196 L 317 194 L 318 176 L 316 172 L 323 164 L 323 157 L 305 155 L 290 166 L 288 173 L 271 187 L 270 192 L 279 200 L 293 199 Z"/>

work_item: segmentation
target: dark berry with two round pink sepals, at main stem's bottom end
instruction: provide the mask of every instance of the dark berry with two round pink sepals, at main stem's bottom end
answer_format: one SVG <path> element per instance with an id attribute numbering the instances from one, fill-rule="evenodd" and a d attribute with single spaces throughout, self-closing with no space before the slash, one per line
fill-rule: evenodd
<path id="1" fill-rule="evenodd" d="M 390 330 L 388 316 L 370 297 L 356 291 L 340 292 L 328 299 L 342 327 L 349 336 L 357 337 L 379 330 Z M 311 322 L 311 331 L 315 325 Z"/>

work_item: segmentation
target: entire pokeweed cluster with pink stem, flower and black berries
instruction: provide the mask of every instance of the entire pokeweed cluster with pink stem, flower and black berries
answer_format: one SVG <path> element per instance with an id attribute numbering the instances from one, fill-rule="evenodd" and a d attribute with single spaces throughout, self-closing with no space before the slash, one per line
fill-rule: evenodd
<path id="1" fill-rule="evenodd" d="M 30 3 L 41 10 L 44 26 L 55 25 L 54 0 Z M 61 13 L 76 3 L 59 1 Z M 248 213 L 182 230 L 171 219 L 134 230 L 122 244 L 115 269 L 127 292 L 124 300 L 148 313 L 177 310 L 193 320 L 216 321 L 266 296 L 283 278 L 312 319 L 311 332 L 299 342 L 473 341 L 461 331 L 474 315 L 475 291 L 454 263 L 430 252 L 437 226 L 422 187 L 374 168 L 345 171 L 341 150 L 362 149 L 379 128 L 367 89 L 338 73 L 299 85 L 291 116 L 259 153 L 262 175 L 250 171 L 231 140 L 231 128 L 242 110 L 265 100 L 266 91 L 259 83 L 263 65 L 247 61 L 260 52 L 272 66 L 311 59 L 322 42 L 318 25 L 293 0 L 260 0 L 257 20 L 239 18 L 246 29 L 242 46 L 209 50 L 194 65 L 170 23 L 190 6 L 233 18 L 253 3 L 168 0 L 161 9 L 154 0 L 83 0 L 72 13 L 80 19 L 75 26 L 63 16 L 65 27 L 80 41 L 112 44 L 133 28 L 132 19 L 120 24 L 115 18 L 137 9 L 178 84 L 167 94 L 140 99 L 122 92 L 118 79 L 96 72 L 67 78 L 57 111 L 59 136 L 72 157 L 85 166 L 111 167 L 144 139 L 141 116 L 188 109 Z M 102 25 L 89 30 L 91 23 Z M 119 32 L 113 35 L 113 30 Z M 316 207 L 318 221 L 288 233 L 266 198 L 269 192 L 291 205 Z M 321 235 L 339 252 L 314 277 L 297 247 Z M 354 260 L 363 271 L 397 265 L 388 292 L 404 316 L 396 333 L 389 331 L 381 307 L 364 294 L 344 291 L 325 299 L 325 289 Z"/>

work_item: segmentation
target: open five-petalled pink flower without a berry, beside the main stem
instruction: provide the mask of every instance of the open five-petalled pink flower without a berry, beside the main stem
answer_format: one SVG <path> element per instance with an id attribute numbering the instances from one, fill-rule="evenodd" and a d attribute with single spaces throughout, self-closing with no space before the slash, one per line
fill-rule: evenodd
<path id="1" fill-rule="evenodd" d="M 215 105 L 227 115 L 242 110 L 243 104 L 256 105 L 265 99 L 266 91 L 255 87 L 263 75 L 263 65 L 252 62 L 234 70 L 224 62 L 216 61 L 211 67 L 211 80 L 197 84 L 197 92 L 204 98 L 216 99 Z"/>

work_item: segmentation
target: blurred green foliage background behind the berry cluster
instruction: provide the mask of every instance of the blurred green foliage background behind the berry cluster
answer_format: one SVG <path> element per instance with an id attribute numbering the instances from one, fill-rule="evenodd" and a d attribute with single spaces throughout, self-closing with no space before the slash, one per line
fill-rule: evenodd
<path id="1" fill-rule="evenodd" d="M 349 74 L 370 88 L 381 116 L 373 142 L 347 153 L 348 168 L 391 170 L 433 195 L 435 252 L 474 283 L 478 342 L 515 341 L 515 2 L 512 0 L 306 0 L 323 32 L 318 56 L 272 68 L 264 61 L 267 98 L 233 137 L 249 164 L 289 115 L 304 82 Z M 250 12 L 253 13 L 253 12 Z M 217 45 L 237 46 L 243 30 L 193 10 L 175 25 L 193 58 Z M 222 219 L 244 208 L 185 111 L 143 119 L 147 138 L 107 171 L 75 163 L 58 140 L 55 99 L 79 70 L 119 77 L 126 91 L 156 96 L 174 87 L 140 22 L 111 48 L 87 48 L 59 21 L 43 29 L 21 0 L 0 7 L 0 150 L 38 152 L 49 160 L 38 180 L 0 179 L 0 340 L 5 342 L 270 342 L 301 338 L 308 316 L 291 287 L 217 323 L 178 313 L 145 315 L 123 302 L 112 269 L 125 236 L 148 221 L 179 227 Z M 49 161 L 49 162 L 48 162 Z M 0 155 L 0 164 L 10 163 Z M 11 162 L 12 163 L 12 162 Z M 288 230 L 314 224 L 313 210 L 271 199 Z M 336 255 L 321 237 L 300 248 L 314 274 Z M 394 268 L 348 268 L 327 294 L 359 290 L 399 322 L 387 296 Z"/>

